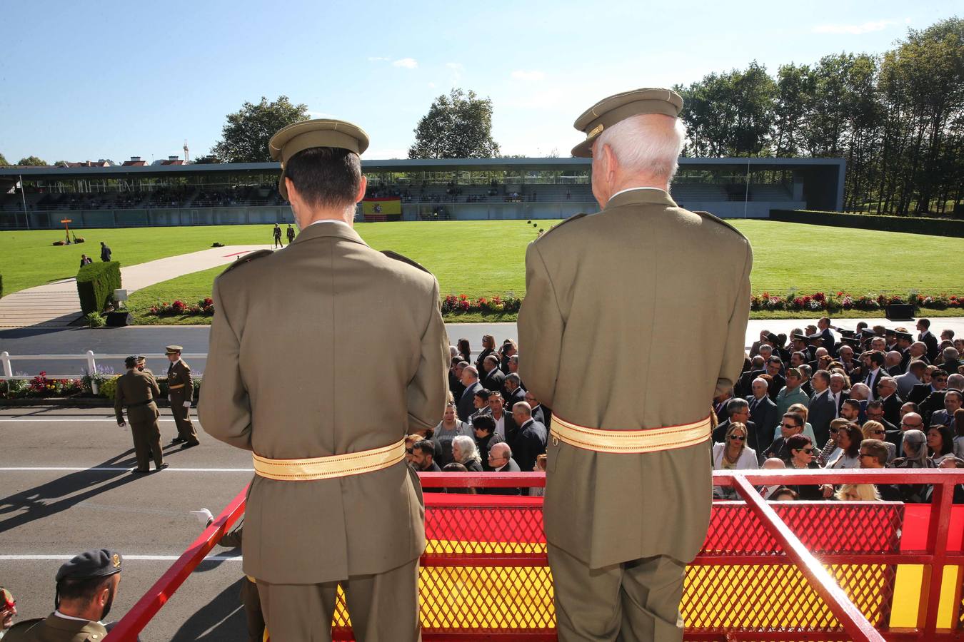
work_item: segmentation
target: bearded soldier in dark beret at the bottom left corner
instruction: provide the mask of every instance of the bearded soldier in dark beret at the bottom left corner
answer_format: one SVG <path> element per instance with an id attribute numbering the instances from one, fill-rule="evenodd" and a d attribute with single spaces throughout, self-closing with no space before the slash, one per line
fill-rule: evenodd
<path id="1" fill-rule="evenodd" d="M 99 642 L 107 635 L 103 621 L 120 584 L 120 553 L 83 552 L 57 572 L 56 609 L 46 618 L 13 625 L 4 642 Z"/>

